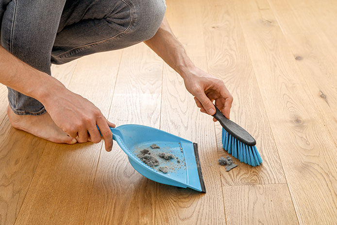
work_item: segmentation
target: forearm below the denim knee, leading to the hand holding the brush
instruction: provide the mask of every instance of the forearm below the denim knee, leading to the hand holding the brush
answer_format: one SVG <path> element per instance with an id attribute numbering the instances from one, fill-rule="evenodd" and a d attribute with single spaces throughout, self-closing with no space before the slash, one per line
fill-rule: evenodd
<path id="1" fill-rule="evenodd" d="M 183 78 L 188 76 L 190 70 L 194 68 L 194 64 L 188 58 L 183 45 L 173 35 L 166 17 L 164 17 L 157 33 L 144 43 Z"/>

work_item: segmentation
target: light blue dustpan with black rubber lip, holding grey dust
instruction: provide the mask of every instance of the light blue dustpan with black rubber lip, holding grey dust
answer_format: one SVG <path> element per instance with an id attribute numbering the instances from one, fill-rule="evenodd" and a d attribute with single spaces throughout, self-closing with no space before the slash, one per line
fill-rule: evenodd
<path id="1" fill-rule="evenodd" d="M 158 183 L 206 192 L 196 143 L 143 125 L 126 124 L 110 129 L 131 165 L 143 176 Z M 152 149 L 152 144 L 160 148 Z M 150 149 L 151 156 L 158 158 L 160 165 L 152 168 L 145 164 L 137 156 L 143 149 Z M 166 160 L 159 157 L 159 153 L 171 154 L 174 158 Z M 159 167 L 167 168 L 168 173 L 161 172 Z"/>

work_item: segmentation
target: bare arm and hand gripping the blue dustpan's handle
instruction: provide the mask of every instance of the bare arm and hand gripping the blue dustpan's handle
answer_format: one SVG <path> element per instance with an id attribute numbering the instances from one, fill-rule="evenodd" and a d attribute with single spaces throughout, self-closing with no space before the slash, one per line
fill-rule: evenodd
<path id="1" fill-rule="evenodd" d="M 99 142 L 100 127 L 106 150 L 112 148 L 109 126 L 115 125 L 105 119 L 101 111 L 87 99 L 69 91 L 61 82 L 41 72 L 0 46 L 0 83 L 41 102 L 51 119 L 70 137 L 85 142 Z M 90 137 L 88 137 L 88 133 Z"/>

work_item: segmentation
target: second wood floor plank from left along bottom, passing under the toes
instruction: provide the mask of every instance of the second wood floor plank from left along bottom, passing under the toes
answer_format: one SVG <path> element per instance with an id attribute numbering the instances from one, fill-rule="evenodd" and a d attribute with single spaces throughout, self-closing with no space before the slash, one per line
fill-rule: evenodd
<path id="1" fill-rule="evenodd" d="M 78 61 L 69 89 L 108 115 L 121 51 Z M 83 224 L 102 143 L 48 142 L 16 224 Z"/>

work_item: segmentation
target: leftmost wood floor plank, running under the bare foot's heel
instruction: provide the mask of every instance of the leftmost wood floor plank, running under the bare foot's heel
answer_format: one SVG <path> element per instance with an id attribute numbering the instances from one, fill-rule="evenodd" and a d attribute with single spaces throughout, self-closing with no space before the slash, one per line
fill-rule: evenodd
<path id="1" fill-rule="evenodd" d="M 52 67 L 52 74 L 68 86 L 77 61 Z M 0 95 L 0 97 L 7 97 Z M 8 102 L 1 104 L 5 116 Z M 0 113 L 0 115 L 1 115 Z M 47 141 L 14 129 L 7 117 L 0 125 L 0 224 L 14 224 Z"/>

